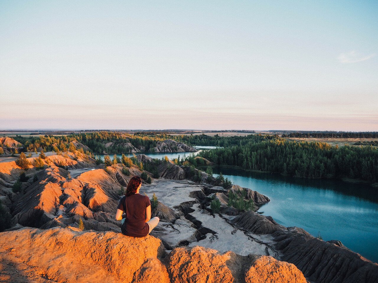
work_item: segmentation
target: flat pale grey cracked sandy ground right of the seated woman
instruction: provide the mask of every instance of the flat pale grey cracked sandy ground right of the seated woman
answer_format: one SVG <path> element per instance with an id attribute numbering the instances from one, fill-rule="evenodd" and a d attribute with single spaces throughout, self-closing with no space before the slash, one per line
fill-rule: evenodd
<path id="1" fill-rule="evenodd" d="M 175 206 L 187 201 L 195 201 L 189 197 L 190 192 L 200 191 L 203 185 L 183 180 L 153 180 L 150 185 L 143 185 L 141 194 L 146 193 L 150 198 L 155 193 L 158 200 L 169 208 L 178 211 Z M 216 249 L 220 252 L 233 251 L 240 255 L 261 254 L 271 255 L 278 258 L 277 252 L 273 251 L 270 243 L 273 241 L 271 236 L 246 234 L 240 229 L 235 228 L 227 222 L 234 216 L 220 217 L 218 214 L 211 215 L 205 209 L 201 209 L 200 204 L 194 203 L 191 207 L 194 212 L 189 214 L 200 221 L 201 228 L 210 229 L 213 232 L 206 234 L 206 238 L 197 241 L 195 233 L 197 228 L 193 223 L 184 217 L 179 218 L 174 223 L 160 221 L 156 231 L 152 235 L 160 238 L 171 247 L 177 246 L 183 241 L 187 241 L 189 246 L 203 246 Z M 197 224 L 198 225 L 198 224 Z M 206 229 L 205 229 L 206 231 Z M 215 233 L 214 233 L 215 232 Z M 198 233 L 198 232 L 197 232 Z"/>

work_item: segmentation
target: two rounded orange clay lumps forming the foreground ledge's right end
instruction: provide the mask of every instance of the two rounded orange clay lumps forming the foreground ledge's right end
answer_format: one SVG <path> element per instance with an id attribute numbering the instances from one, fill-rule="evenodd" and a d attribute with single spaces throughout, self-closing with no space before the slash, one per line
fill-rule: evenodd
<path id="1" fill-rule="evenodd" d="M 213 249 L 195 246 L 175 248 L 169 254 L 168 272 L 177 283 L 306 283 L 293 264 L 268 256 L 219 254 Z"/>

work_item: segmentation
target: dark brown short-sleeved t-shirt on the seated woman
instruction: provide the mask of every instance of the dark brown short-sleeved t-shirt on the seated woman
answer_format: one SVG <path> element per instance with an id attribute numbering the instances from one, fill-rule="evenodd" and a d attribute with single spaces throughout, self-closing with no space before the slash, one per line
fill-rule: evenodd
<path id="1" fill-rule="evenodd" d="M 146 223 L 146 208 L 149 205 L 151 202 L 147 195 L 133 194 L 121 198 L 117 209 L 126 213 L 125 222 L 121 226 L 122 234 L 131 237 L 148 235 L 150 227 Z"/>

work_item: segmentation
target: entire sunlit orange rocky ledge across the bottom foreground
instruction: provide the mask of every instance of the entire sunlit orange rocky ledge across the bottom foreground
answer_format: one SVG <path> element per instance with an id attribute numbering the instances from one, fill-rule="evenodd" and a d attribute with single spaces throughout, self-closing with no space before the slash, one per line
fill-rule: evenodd
<path id="1" fill-rule="evenodd" d="M 115 232 L 23 228 L 0 233 L 0 281 L 306 283 L 293 264 L 273 257 L 219 253 L 199 246 L 169 254 L 155 237 Z"/>

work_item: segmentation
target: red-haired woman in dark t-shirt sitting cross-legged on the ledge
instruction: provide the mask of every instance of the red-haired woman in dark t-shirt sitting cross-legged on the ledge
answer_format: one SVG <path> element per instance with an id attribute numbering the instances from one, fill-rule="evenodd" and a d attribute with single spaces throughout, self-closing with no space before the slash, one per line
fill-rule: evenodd
<path id="1" fill-rule="evenodd" d="M 141 185 L 140 177 L 132 177 L 117 207 L 116 220 L 122 220 L 122 234 L 131 237 L 147 236 L 160 220 L 159 217 L 151 219 L 151 202 L 147 195 L 139 194 Z M 123 212 L 126 217 L 122 219 Z"/>

